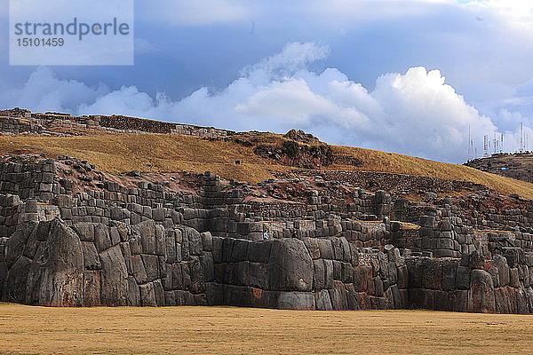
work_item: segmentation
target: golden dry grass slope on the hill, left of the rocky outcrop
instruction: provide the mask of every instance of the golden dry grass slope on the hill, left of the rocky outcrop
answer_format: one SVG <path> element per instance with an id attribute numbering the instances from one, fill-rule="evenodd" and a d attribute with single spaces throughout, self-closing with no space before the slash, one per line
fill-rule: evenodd
<path id="1" fill-rule="evenodd" d="M 271 165 L 250 147 L 189 136 L 0 137 L 0 154 L 41 152 L 49 156 L 75 156 L 113 173 L 211 170 L 223 177 L 258 182 L 272 178 L 272 171 L 287 170 Z M 240 165 L 235 164 L 237 160 Z"/>

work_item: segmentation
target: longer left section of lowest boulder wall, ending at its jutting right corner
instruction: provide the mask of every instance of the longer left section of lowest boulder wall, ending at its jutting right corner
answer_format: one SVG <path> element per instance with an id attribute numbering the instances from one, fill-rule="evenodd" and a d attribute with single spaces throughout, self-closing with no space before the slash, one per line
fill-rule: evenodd
<path id="1" fill-rule="evenodd" d="M 151 220 L 69 227 L 58 217 L 20 225 L 5 248 L 2 299 L 21 304 L 347 310 L 407 302 L 398 249 L 360 252 L 345 238 L 247 241 Z"/>

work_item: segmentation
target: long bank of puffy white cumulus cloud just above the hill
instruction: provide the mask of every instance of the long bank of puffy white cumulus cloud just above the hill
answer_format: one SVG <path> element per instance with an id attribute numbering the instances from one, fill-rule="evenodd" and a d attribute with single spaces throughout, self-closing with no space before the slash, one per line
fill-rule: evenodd
<path id="1" fill-rule="evenodd" d="M 308 130 L 330 142 L 464 162 L 468 130 L 478 144 L 497 127 L 446 83 L 438 70 L 411 67 L 382 75 L 369 90 L 337 68 L 315 73 L 307 65 L 327 47 L 289 43 L 247 67 L 226 88 L 203 87 L 185 99 L 155 98 L 136 87 L 109 91 L 55 78 L 40 68 L 18 91 L 19 106 L 66 109 L 77 114 L 128 114 L 233 130 Z M 282 73 L 282 75 L 280 75 Z M 481 152 L 481 147 L 479 148 Z"/>

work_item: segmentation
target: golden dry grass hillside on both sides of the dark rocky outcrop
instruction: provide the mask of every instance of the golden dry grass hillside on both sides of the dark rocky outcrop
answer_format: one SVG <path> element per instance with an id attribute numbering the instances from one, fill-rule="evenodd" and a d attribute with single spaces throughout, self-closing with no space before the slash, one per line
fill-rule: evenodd
<path id="1" fill-rule="evenodd" d="M 246 138 L 246 136 L 237 136 Z M 283 138 L 272 133 L 254 136 L 254 144 L 279 143 Z M 533 184 L 475 170 L 462 165 L 433 162 L 402 154 L 369 149 L 334 146 L 337 154 L 352 155 L 362 167 L 333 165 L 329 170 L 366 170 L 441 177 L 487 185 L 500 193 L 518 193 L 533 199 Z M 272 178 L 274 171 L 290 170 L 253 153 L 253 146 L 211 141 L 190 136 L 105 135 L 86 137 L 0 137 L 0 154 L 46 153 L 86 159 L 99 170 L 126 172 L 176 172 L 211 170 L 226 178 L 259 182 Z M 241 161 L 236 165 L 235 161 Z"/>

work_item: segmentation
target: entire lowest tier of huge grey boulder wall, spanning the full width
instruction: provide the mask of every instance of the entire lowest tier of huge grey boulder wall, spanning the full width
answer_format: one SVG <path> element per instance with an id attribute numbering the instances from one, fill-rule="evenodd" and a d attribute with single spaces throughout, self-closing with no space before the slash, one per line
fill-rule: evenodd
<path id="1" fill-rule="evenodd" d="M 55 218 L 20 225 L 0 249 L 2 299 L 21 304 L 533 312 L 533 253 L 520 248 L 435 259 L 346 238 L 247 241 Z"/>

